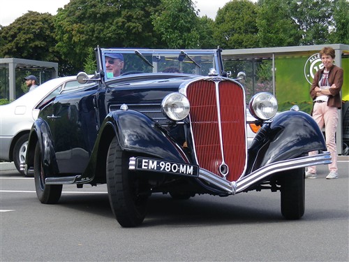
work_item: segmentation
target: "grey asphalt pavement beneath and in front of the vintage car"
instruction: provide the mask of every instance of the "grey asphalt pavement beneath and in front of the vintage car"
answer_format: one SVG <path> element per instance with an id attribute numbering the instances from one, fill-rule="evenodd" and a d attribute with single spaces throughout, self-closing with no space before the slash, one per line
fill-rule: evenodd
<path id="1" fill-rule="evenodd" d="M 154 194 L 142 226 L 121 228 L 105 185 L 64 186 L 57 205 L 0 164 L 0 261 L 349 261 L 348 157 L 339 179 L 306 180 L 304 217 L 281 217 L 280 193 L 174 201 Z"/>

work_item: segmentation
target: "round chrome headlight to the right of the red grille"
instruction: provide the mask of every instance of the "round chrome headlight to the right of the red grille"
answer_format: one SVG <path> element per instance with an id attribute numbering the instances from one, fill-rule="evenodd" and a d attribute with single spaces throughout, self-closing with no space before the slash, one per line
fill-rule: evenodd
<path id="1" fill-rule="evenodd" d="M 278 111 L 278 101 L 276 101 L 275 96 L 272 94 L 260 92 L 252 97 L 248 104 L 248 108 L 253 117 L 267 120 L 276 115 Z"/>

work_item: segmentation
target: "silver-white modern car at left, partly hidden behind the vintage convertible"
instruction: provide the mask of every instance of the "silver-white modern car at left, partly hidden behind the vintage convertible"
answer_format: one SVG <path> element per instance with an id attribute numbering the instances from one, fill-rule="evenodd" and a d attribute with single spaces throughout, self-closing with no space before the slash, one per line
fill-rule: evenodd
<path id="1" fill-rule="evenodd" d="M 87 84 L 88 85 L 88 84 Z M 75 76 L 54 78 L 12 103 L 0 106 L 0 160 L 13 161 L 20 171 L 27 153 L 29 131 L 38 118 L 40 106 L 62 92 L 82 87 Z M 83 85 L 86 87 L 86 85 Z"/>

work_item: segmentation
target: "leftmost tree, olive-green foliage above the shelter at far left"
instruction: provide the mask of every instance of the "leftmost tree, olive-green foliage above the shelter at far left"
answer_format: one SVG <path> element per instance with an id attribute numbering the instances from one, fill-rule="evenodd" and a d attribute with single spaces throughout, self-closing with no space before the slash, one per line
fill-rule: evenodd
<path id="1" fill-rule="evenodd" d="M 57 61 L 54 17 L 29 11 L 0 30 L 0 54 L 40 61 Z"/>

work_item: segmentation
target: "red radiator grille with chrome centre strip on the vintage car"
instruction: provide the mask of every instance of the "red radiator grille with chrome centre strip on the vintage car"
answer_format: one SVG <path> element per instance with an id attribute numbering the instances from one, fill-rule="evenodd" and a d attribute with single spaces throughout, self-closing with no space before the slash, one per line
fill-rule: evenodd
<path id="1" fill-rule="evenodd" d="M 227 180 L 236 181 L 242 175 L 246 163 L 244 91 L 235 82 L 228 80 L 219 82 L 218 87 L 218 99 L 216 82 L 200 80 L 187 88 L 195 150 L 201 168 L 222 176 L 219 166 L 224 159 L 229 167 Z M 218 100 L 222 137 L 219 131 Z"/>

